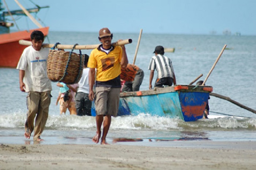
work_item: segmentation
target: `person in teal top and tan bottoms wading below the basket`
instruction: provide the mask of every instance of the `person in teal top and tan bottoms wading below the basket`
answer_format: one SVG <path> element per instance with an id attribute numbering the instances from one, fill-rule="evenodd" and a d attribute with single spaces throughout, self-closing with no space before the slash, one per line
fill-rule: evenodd
<path id="1" fill-rule="evenodd" d="M 63 82 L 58 82 L 57 86 L 60 87 L 60 94 L 57 98 L 57 102 L 60 103 L 60 114 L 66 114 L 67 109 L 70 115 L 76 115 L 75 107 L 75 93 L 78 88 L 78 84 L 66 85 Z"/>

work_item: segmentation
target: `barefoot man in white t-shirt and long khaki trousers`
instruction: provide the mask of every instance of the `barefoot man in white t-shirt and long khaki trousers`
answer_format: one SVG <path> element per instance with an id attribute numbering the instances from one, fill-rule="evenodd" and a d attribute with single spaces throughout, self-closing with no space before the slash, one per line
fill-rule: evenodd
<path id="1" fill-rule="evenodd" d="M 51 102 L 52 84 L 46 73 L 49 49 L 42 47 L 44 34 L 35 30 L 30 35 L 32 45 L 23 51 L 17 69 L 19 69 L 19 88 L 27 92 L 27 119 L 25 123 L 25 138 L 41 141 L 48 119 Z"/>

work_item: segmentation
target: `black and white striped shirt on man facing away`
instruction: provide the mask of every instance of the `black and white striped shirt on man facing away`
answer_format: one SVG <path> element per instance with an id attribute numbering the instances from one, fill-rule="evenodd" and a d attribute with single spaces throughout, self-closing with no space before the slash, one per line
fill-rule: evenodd
<path id="1" fill-rule="evenodd" d="M 157 70 L 157 79 L 164 77 L 173 78 L 172 61 L 164 55 L 158 54 L 151 58 L 148 70 Z"/>

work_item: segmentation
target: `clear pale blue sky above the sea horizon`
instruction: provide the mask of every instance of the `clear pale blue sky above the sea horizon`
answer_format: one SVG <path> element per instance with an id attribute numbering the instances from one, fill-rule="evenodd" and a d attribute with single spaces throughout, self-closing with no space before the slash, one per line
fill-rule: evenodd
<path id="1" fill-rule="evenodd" d="M 14 0 L 5 0 L 18 9 Z M 33 7 L 29 0 L 19 0 Z M 42 9 L 39 18 L 50 31 L 169 34 L 210 34 L 230 30 L 232 34 L 256 35 L 256 0 L 33 0 Z M 20 28 L 27 22 L 19 20 Z M 31 27 L 34 25 L 31 25 Z"/>

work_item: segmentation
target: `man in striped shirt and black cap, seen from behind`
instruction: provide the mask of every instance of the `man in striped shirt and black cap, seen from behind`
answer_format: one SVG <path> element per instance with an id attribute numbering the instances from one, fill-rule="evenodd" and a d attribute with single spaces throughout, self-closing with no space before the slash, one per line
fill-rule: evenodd
<path id="1" fill-rule="evenodd" d="M 176 85 L 176 77 L 174 74 L 172 61 L 164 56 L 165 51 L 162 46 L 156 46 L 155 56 L 150 60 L 148 70 L 150 70 L 149 77 L 149 89 L 152 89 L 152 80 L 154 77 L 154 72 L 157 70 L 157 80 L 155 81 L 154 87 L 164 87 Z"/>

